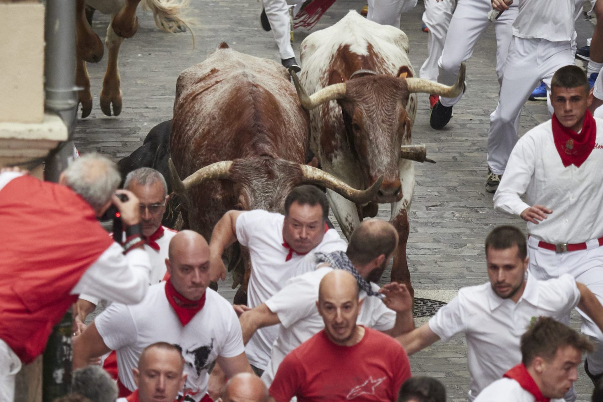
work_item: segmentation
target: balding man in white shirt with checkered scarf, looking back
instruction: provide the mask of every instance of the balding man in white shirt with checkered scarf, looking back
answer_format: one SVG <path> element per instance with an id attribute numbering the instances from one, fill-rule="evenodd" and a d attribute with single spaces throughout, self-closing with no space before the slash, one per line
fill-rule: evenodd
<path id="1" fill-rule="evenodd" d="M 279 325 L 279 335 L 271 350 L 270 362 L 262 380 L 270 386 L 280 362 L 324 328 L 316 300 L 318 286 L 324 275 L 334 269 L 352 273 L 363 299 L 358 323 L 397 336 L 412 326 L 410 298 L 406 287 L 390 283 L 379 289 L 387 263 L 396 250 L 396 229 L 385 221 L 368 219 L 350 237 L 347 251 L 315 253 L 317 269 L 287 281 L 285 287 L 260 306 L 241 315 L 243 340 L 247 342 L 257 328 Z M 385 299 L 382 301 L 382 296 Z M 405 310 L 407 309 L 407 310 Z"/>

